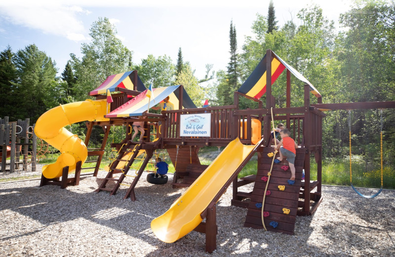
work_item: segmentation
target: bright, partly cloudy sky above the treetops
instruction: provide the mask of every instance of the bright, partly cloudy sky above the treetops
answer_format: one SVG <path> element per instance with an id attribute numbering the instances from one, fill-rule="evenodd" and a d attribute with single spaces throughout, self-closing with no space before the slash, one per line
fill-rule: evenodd
<path id="1" fill-rule="evenodd" d="M 133 63 L 149 54 L 170 56 L 177 62 L 181 47 L 184 61 L 205 75 L 205 64 L 226 70 L 229 62 L 230 23 L 236 27 L 238 52 L 245 36 L 253 36 L 256 14 L 268 13 L 270 0 L 12 0 L 0 1 L 0 51 L 10 45 L 13 52 L 35 43 L 56 62 L 58 76 L 70 53 L 81 57 L 81 43 L 89 43 L 89 29 L 99 17 L 116 26 L 118 38 L 131 51 Z M 338 25 L 349 0 L 274 0 L 279 26 L 293 19 L 300 9 L 319 5 L 323 15 Z M 263 56 L 262 56 L 263 57 Z"/>

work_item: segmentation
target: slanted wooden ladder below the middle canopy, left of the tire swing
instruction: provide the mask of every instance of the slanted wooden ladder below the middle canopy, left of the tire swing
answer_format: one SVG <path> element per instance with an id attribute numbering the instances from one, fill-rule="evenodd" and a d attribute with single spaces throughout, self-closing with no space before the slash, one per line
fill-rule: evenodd
<path id="1" fill-rule="evenodd" d="M 103 182 L 99 186 L 98 189 L 96 189 L 95 192 L 100 192 L 100 191 L 108 191 L 110 192 L 110 195 L 114 195 L 117 193 L 118 188 L 120 184 L 122 183 L 123 179 L 125 178 L 127 172 L 129 171 L 130 166 L 133 164 L 134 160 L 136 159 L 139 151 L 142 149 L 143 144 L 138 144 L 137 142 L 130 142 L 130 137 L 126 137 L 126 139 L 122 142 L 122 146 L 118 152 L 118 157 L 114 162 L 110 165 L 109 167 L 109 172 L 104 178 Z M 133 145 L 133 149 L 131 149 L 131 146 Z M 132 152 L 131 157 L 128 160 L 122 160 L 122 157 L 127 154 Z M 147 154 L 148 156 L 148 154 Z M 152 156 L 152 155 L 151 155 Z M 119 163 L 125 163 L 123 168 L 117 169 L 117 166 Z M 113 175 L 117 173 L 122 173 L 118 178 L 114 178 Z M 106 185 L 109 181 L 116 181 L 116 185 L 114 188 L 107 188 Z M 133 181 L 134 182 L 134 181 Z"/>

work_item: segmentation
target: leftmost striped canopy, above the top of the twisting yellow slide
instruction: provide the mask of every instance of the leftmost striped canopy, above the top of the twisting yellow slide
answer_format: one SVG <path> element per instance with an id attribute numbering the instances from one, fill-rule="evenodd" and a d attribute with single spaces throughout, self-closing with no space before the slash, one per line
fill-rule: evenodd
<path id="1" fill-rule="evenodd" d="M 89 95 L 105 94 L 107 90 L 110 92 L 116 91 L 116 87 L 122 87 L 126 89 L 133 90 L 133 81 L 135 73 L 132 71 L 127 71 L 123 73 L 118 73 L 115 75 L 108 76 L 107 79 L 97 87 L 95 90 L 91 91 Z M 137 75 L 137 91 L 144 91 L 146 88 L 141 81 L 140 77 Z"/>

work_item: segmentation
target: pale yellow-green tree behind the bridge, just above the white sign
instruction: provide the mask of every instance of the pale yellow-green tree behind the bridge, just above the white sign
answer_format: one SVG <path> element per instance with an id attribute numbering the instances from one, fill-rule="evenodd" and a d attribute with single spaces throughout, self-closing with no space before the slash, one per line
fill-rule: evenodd
<path id="1" fill-rule="evenodd" d="M 198 85 L 197 78 L 194 76 L 191 66 L 185 66 L 184 70 L 178 74 L 176 84 L 185 87 L 185 90 L 197 107 L 202 106 L 202 101 L 205 99 L 205 90 Z"/>

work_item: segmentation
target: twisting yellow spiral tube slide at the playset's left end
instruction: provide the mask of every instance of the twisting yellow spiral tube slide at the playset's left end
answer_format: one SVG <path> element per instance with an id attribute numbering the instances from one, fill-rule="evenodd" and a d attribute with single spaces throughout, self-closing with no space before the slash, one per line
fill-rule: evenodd
<path id="1" fill-rule="evenodd" d="M 42 168 L 44 177 L 61 177 L 66 166 L 69 166 L 69 172 L 75 171 L 77 162 L 84 163 L 88 156 L 84 142 L 64 126 L 83 121 L 108 121 L 109 119 L 104 118 L 106 110 L 106 99 L 87 99 L 57 106 L 40 116 L 36 122 L 36 135 L 61 153 L 55 163 Z"/>

